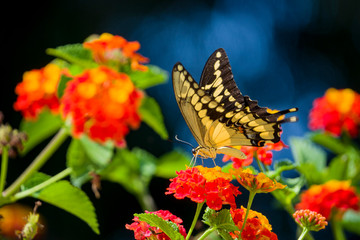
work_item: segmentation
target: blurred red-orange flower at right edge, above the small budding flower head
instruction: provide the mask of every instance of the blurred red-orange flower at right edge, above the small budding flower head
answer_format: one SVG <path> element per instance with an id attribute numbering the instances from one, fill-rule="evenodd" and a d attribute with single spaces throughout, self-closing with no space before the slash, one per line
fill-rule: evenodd
<path id="1" fill-rule="evenodd" d="M 303 192 L 296 209 L 309 209 L 330 219 L 332 210 L 336 210 L 340 217 L 347 209 L 359 210 L 359 201 L 350 182 L 332 180 L 322 185 L 313 185 Z"/>

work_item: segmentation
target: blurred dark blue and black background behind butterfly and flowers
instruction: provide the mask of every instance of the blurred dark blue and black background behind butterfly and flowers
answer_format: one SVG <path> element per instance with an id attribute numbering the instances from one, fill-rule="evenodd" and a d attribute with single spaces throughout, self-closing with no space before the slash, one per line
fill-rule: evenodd
<path id="1" fill-rule="evenodd" d="M 356 0 L 11 2 L 1 15 L 0 110 L 6 122 L 18 126 L 21 116 L 12 110 L 16 100 L 13 89 L 24 71 L 41 68 L 52 60 L 45 54 L 46 48 L 110 32 L 139 41 L 139 52 L 149 57 L 151 64 L 170 72 L 180 61 L 196 79 L 210 54 L 224 48 L 243 94 L 272 109 L 299 107 L 299 121 L 283 126 L 283 140 L 288 143 L 289 137 L 303 136 L 308 131 L 312 101 L 327 88 L 359 91 L 359 18 L 360 2 Z M 177 134 L 195 145 L 178 110 L 171 81 L 147 93 L 162 107 L 170 137 Z M 157 156 L 173 147 L 190 150 L 161 142 L 146 126 L 132 133 L 128 142 Z M 55 174 L 64 167 L 64 154 L 59 152 L 58 162 L 48 163 L 45 172 Z M 291 157 L 290 150 L 275 153 L 275 159 L 285 157 Z M 10 179 L 31 159 L 30 154 L 25 160 L 17 160 L 16 165 L 11 163 Z M 188 227 L 194 206 L 163 196 L 167 185 L 167 180 L 155 179 L 151 184 L 153 195 L 160 208 L 183 217 Z M 86 185 L 85 190 L 89 189 Z M 89 233 L 87 226 L 69 214 L 43 206 L 40 211 L 44 209 L 49 221 L 49 239 L 121 239 L 118 234 L 131 237 L 123 226 L 130 222 L 132 213 L 141 211 L 139 206 L 119 185 L 105 183 L 102 193 L 101 200 L 93 199 L 101 238 Z M 269 217 L 279 239 L 295 239 L 295 226 L 269 203 L 270 199 L 265 194 L 259 196 L 254 209 Z M 28 202 L 32 204 L 32 200 Z"/>

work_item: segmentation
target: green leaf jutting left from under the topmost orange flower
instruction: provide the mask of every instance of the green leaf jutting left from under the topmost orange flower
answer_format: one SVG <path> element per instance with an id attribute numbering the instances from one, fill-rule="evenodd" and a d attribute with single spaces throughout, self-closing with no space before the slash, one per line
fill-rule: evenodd
<path id="1" fill-rule="evenodd" d="M 81 43 L 68 44 L 57 48 L 48 48 L 46 49 L 46 53 L 85 68 L 95 68 L 98 66 L 93 61 L 91 51 L 84 48 Z"/>

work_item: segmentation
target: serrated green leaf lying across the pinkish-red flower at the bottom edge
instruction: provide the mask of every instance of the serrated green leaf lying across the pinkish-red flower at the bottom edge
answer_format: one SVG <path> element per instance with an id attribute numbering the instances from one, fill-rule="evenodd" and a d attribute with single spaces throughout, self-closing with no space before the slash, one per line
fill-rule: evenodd
<path id="1" fill-rule="evenodd" d="M 185 239 L 184 236 L 180 234 L 178 226 L 171 221 L 166 221 L 152 213 L 134 214 L 134 216 L 152 227 L 160 228 L 171 240 Z"/>

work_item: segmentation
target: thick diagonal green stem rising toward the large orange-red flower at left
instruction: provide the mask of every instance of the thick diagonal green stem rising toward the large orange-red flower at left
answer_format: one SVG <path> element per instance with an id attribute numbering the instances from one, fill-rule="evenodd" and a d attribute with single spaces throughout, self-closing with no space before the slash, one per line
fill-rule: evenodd
<path id="1" fill-rule="evenodd" d="M 15 180 L 15 182 L 10 185 L 10 187 L 5 190 L 4 197 L 9 197 L 18 191 L 20 186 L 46 163 L 46 161 L 60 147 L 67 137 L 67 130 L 65 128 L 61 128 L 53 139 L 51 139 L 48 145 L 46 145 L 34 161 L 27 167 L 27 169 Z"/>

